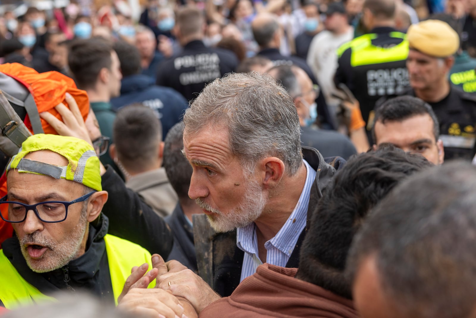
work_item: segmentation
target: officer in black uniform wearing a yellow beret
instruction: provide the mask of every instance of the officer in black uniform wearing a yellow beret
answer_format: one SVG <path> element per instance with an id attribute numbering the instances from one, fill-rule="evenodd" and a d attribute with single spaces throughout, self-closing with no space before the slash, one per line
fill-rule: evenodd
<path id="1" fill-rule="evenodd" d="M 433 108 L 440 124 L 445 161 L 471 160 L 476 140 L 476 96 L 448 80 L 459 48 L 458 34 L 446 22 L 426 20 L 412 25 L 407 37 L 411 89 L 404 94 L 416 96 Z"/>

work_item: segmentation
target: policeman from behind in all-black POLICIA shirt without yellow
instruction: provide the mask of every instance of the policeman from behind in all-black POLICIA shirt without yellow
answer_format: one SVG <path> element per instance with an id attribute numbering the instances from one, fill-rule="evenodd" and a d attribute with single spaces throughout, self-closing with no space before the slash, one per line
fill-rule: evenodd
<path id="1" fill-rule="evenodd" d="M 184 8 L 178 12 L 175 34 L 183 50 L 163 61 L 157 72 L 157 85 L 175 89 L 188 101 L 208 82 L 234 72 L 238 66 L 233 52 L 203 44 L 204 23 L 200 10 Z"/>

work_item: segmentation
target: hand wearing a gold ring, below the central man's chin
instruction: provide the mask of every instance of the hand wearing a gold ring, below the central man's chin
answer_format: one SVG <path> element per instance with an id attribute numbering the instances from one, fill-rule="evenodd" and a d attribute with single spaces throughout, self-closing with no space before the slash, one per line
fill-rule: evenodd
<path id="1" fill-rule="evenodd" d="M 220 296 L 208 284 L 190 269 L 184 269 L 178 261 L 167 263 L 169 273 L 157 277 L 157 286 L 170 290 L 173 295 L 185 298 L 199 314 L 203 308 Z"/>

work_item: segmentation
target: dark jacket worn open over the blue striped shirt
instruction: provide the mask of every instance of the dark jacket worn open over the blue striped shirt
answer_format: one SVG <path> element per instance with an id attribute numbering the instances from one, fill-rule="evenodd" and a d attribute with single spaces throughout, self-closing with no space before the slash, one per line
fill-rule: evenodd
<path id="1" fill-rule="evenodd" d="M 301 244 L 306 236 L 307 228 L 309 228 L 309 220 L 313 211 L 316 208 L 317 202 L 322 197 L 322 190 L 327 186 L 332 179 L 336 171 L 345 164 L 345 160 L 340 157 L 324 159 L 316 149 L 303 147 L 302 153 L 304 159 L 313 169 L 316 169 L 316 179 L 311 187 L 309 197 L 309 207 L 307 209 L 307 225 L 301 232 L 296 246 L 289 257 L 286 267 L 299 267 L 299 252 Z M 202 231 L 200 231 L 202 232 Z M 207 232 L 206 230 L 203 231 Z M 211 286 L 222 297 L 231 295 L 233 290 L 240 283 L 241 267 L 243 264 L 244 252 L 237 246 L 237 231 L 231 231 L 227 233 L 216 233 L 210 237 L 212 246 L 212 275 L 213 282 Z M 200 252 L 197 250 L 197 255 Z M 202 257 L 204 258 L 204 257 Z M 203 268 L 201 259 L 198 261 L 198 272 L 203 277 L 204 271 L 207 268 Z M 204 278 L 207 281 L 207 277 Z"/>

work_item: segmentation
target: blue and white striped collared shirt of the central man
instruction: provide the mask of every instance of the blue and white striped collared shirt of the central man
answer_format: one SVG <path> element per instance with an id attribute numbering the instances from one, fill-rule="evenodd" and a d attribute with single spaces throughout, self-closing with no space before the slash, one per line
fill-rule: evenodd
<path id="1" fill-rule="evenodd" d="M 266 262 L 268 264 L 286 267 L 289 256 L 296 246 L 297 239 L 306 227 L 307 206 L 309 205 L 309 195 L 311 186 L 316 179 L 316 171 L 303 160 L 306 169 L 306 183 L 302 190 L 297 205 L 289 216 L 288 221 L 281 227 L 278 234 L 265 243 L 267 250 Z M 256 272 L 256 268 L 263 264 L 258 257 L 258 241 L 256 238 L 255 223 L 237 229 L 237 246 L 243 252 L 243 267 L 241 268 L 241 280 Z"/>

